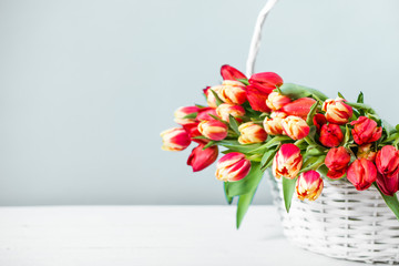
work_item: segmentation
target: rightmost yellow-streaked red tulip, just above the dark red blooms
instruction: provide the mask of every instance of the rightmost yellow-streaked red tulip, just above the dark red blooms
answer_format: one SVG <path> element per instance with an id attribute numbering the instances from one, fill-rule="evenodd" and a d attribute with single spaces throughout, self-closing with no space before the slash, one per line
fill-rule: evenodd
<path id="1" fill-rule="evenodd" d="M 326 112 L 326 119 L 330 123 L 346 124 L 352 116 L 352 108 L 345 103 L 341 98 L 336 100 L 327 99 L 323 104 L 323 111 Z"/>

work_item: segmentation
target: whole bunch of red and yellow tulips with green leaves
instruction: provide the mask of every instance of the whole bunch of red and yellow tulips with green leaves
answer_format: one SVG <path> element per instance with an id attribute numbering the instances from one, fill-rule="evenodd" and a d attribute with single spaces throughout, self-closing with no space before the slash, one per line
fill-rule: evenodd
<path id="1" fill-rule="evenodd" d="M 315 201 L 324 178 L 346 178 L 358 191 L 376 186 L 399 219 L 399 125 L 364 104 L 361 92 L 349 102 L 340 93 L 332 100 L 284 83 L 273 72 L 248 79 L 223 65 L 221 74 L 221 85 L 204 89 L 206 106 L 176 110 L 181 126 L 161 133 L 162 149 L 183 151 L 195 142 L 187 160 L 194 172 L 214 163 L 223 149 L 216 178 L 228 203 L 238 197 L 237 227 L 268 167 L 283 182 L 287 212 L 294 194 Z"/>

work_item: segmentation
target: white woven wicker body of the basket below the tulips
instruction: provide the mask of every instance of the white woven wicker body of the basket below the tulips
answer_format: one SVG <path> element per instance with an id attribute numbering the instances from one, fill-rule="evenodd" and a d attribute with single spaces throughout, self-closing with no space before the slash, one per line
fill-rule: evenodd
<path id="1" fill-rule="evenodd" d="M 348 181 L 325 181 L 315 202 L 295 195 L 289 214 L 282 182 L 268 173 L 285 236 L 295 245 L 329 257 L 399 264 L 399 222 L 375 187 L 357 191 Z"/>

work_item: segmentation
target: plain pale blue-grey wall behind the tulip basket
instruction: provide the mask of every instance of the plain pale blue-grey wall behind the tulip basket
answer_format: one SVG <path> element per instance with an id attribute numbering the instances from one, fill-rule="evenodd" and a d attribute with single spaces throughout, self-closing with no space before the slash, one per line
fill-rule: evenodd
<path id="1" fill-rule="evenodd" d="M 161 151 L 173 111 L 244 70 L 265 0 L 0 1 L 0 204 L 225 204 L 214 166 Z M 378 3 L 378 6 L 377 6 Z M 399 2 L 282 0 L 257 71 L 396 124 Z M 269 203 L 268 187 L 256 203 Z"/>

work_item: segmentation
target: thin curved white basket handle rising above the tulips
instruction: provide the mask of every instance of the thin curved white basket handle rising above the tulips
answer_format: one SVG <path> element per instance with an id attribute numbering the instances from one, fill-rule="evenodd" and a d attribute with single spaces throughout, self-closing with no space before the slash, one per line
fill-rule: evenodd
<path id="1" fill-rule="evenodd" d="M 248 78 L 254 73 L 256 55 L 260 47 L 262 27 L 267 18 L 268 12 L 273 9 L 277 1 L 278 0 L 268 0 L 257 17 L 254 34 L 250 41 L 248 59 L 246 62 L 246 76 Z"/>

